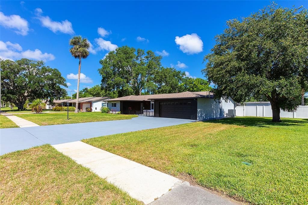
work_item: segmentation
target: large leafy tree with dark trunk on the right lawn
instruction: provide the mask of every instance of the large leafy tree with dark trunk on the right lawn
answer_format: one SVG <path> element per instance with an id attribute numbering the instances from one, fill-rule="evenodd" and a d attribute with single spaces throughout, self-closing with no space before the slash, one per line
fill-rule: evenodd
<path id="1" fill-rule="evenodd" d="M 215 83 L 217 98 L 266 98 L 273 121 L 280 109 L 294 111 L 300 104 L 302 79 L 308 78 L 308 14 L 303 8 L 265 7 L 241 21 L 227 21 L 206 55 L 204 72 Z"/>

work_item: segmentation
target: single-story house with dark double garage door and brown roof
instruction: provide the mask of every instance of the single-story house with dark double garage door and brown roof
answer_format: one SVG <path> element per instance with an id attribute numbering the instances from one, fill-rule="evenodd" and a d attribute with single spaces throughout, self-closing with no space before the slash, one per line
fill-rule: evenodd
<path id="1" fill-rule="evenodd" d="M 234 101 L 214 100 L 209 91 L 171 94 L 129 95 L 106 100 L 113 112 L 123 114 L 153 113 L 154 117 L 204 120 L 225 116 L 234 109 Z M 150 115 L 151 116 L 151 115 Z"/>

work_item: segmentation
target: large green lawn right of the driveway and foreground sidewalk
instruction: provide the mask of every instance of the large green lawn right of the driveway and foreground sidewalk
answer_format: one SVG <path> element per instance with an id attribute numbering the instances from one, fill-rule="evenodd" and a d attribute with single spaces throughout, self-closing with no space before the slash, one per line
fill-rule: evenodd
<path id="1" fill-rule="evenodd" d="M 307 204 L 308 120 L 282 120 L 237 117 L 82 141 L 240 201 Z"/>

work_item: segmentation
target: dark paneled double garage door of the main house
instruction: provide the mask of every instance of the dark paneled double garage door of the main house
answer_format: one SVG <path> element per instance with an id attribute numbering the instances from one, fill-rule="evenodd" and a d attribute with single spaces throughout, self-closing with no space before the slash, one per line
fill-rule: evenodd
<path id="1" fill-rule="evenodd" d="M 160 102 L 160 117 L 191 119 L 192 102 Z"/>

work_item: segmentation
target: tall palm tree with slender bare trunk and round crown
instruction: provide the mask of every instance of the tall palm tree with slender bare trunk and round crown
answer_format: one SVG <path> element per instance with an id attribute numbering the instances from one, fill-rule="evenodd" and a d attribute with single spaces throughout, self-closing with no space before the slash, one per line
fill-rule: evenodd
<path id="1" fill-rule="evenodd" d="M 89 55 L 88 49 L 90 48 L 90 43 L 87 38 L 82 38 L 81 36 L 74 36 L 70 39 L 70 52 L 74 58 L 79 58 L 78 67 L 78 80 L 77 80 L 77 96 L 76 96 L 76 109 L 75 113 L 78 112 L 78 98 L 79 98 L 79 81 L 80 81 L 80 69 L 81 69 L 81 58 L 87 58 Z"/>

